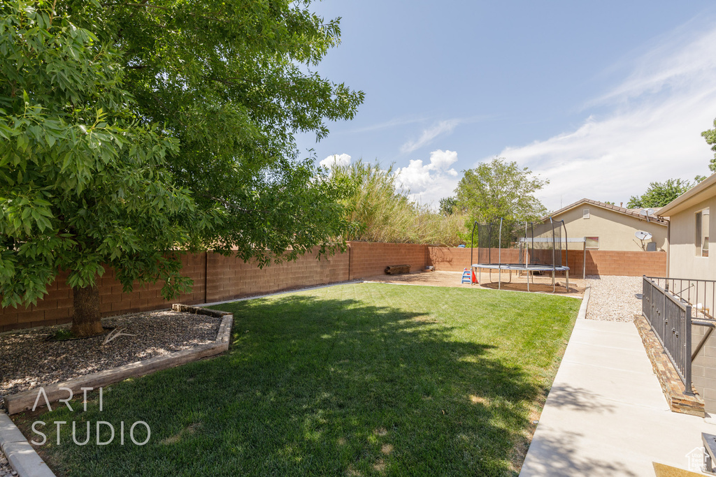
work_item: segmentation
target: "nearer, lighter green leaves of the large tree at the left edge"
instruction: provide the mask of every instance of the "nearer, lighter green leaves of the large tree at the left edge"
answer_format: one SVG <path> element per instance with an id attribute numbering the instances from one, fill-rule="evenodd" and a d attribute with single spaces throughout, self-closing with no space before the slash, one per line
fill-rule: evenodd
<path id="1" fill-rule="evenodd" d="M 44 2 L 0 11 L 3 305 L 36 303 L 59 270 L 86 287 L 106 265 L 188 247 L 195 206 L 165 163 L 177 140 L 135 119 L 120 55 Z M 153 269 L 122 276 L 131 287 L 178 272 Z"/>

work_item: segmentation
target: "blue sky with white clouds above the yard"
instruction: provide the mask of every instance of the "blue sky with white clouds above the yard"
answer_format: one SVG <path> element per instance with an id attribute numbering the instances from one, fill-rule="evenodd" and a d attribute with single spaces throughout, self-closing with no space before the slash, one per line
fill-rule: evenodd
<path id="1" fill-rule="evenodd" d="M 362 89 L 351 122 L 298 137 L 319 160 L 394 164 L 415 200 L 453 195 L 495 155 L 551 181 L 551 210 L 626 202 L 649 182 L 708 175 L 716 118 L 710 1 L 337 1 L 342 44 L 317 71 Z M 344 154 L 344 155 L 341 155 Z M 325 162 L 324 162 L 325 163 Z"/>

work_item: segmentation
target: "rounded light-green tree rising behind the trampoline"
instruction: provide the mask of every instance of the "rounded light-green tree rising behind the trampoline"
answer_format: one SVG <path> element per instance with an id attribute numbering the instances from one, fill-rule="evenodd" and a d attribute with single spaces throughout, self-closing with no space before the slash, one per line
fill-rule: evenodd
<path id="1" fill-rule="evenodd" d="M 517 162 L 495 157 L 465 171 L 455 189 L 457 203 L 470 217 L 471 222 L 492 222 L 503 218 L 508 221 L 536 220 L 547 209 L 535 193 L 548 185 L 548 180 L 536 176 Z"/>

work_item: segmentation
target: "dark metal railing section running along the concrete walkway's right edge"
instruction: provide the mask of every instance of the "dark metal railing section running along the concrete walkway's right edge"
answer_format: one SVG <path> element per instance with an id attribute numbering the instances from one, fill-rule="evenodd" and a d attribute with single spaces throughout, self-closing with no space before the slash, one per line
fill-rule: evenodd
<path id="1" fill-rule="evenodd" d="M 678 295 L 659 286 L 657 279 L 643 277 L 642 314 L 652 325 L 687 393 L 691 392 L 691 325 L 692 306 Z M 678 280 L 678 279 L 676 279 Z"/>

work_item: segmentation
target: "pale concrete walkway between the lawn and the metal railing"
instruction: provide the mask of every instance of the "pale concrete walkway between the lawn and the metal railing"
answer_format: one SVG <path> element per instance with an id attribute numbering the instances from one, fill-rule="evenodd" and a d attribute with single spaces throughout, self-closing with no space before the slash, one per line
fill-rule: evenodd
<path id="1" fill-rule="evenodd" d="M 520 476 L 695 471 L 710 420 L 669 410 L 634 323 L 578 319 Z"/>

